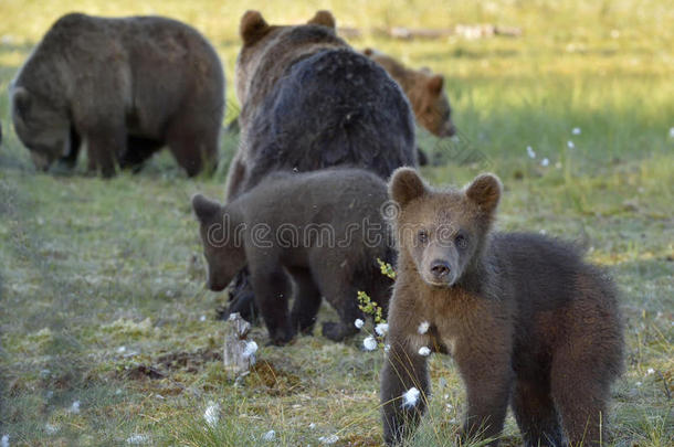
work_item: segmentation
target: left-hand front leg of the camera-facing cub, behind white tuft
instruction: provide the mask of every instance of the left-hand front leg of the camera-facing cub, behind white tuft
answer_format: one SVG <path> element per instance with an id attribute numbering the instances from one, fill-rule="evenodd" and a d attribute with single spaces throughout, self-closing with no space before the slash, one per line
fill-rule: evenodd
<path id="1" fill-rule="evenodd" d="M 396 340 L 394 333 L 389 336 Z M 419 391 L 417 402 L 414 387 Z M 383 440 L 387 445 L 401 444 L 419 425 L 430 392 L 426 360 L 414 352 L 406 341 L 391 341 L 381 372 L 381 406 Z"/>

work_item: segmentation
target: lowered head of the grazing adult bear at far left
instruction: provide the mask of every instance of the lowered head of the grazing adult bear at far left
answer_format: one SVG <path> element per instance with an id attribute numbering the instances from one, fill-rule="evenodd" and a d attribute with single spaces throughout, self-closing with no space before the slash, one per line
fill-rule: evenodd
<path id="1" fill-rule="evenodd" d="M 17 135 L 30 149 L 35 168 L 46 171 L 70 152 L 70 123 L 51 104 L 23 87 L 12 88 L 11 97 Z"/>

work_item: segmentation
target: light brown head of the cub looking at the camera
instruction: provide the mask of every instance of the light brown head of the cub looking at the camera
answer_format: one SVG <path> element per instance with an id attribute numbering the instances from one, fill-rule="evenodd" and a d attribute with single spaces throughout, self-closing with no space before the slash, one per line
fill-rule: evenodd
<path id="1" fill-rule="evenodd" d="M 400 206 L 396 227 L 401 257 L 411 257 L 424 283 L 459 284 L 481 255 L 501 198 L 501 182 L 482 174 L 462 191 L 434 191 L 417 171 L 399 168 L 389 193 Z"/>

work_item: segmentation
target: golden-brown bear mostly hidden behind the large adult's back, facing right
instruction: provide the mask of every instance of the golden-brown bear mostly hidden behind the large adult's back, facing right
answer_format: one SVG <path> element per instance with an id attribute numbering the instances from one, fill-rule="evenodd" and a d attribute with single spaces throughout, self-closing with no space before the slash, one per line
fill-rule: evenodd
<path id="1" fill-rule="evenodd" d="M 393 57 L 372 49 L 366 49 L 364 53 L 400 84 L 410 100 L 419 126 L 438 137 L 451 137 L 456 134 L 442 75 L 434 75 L 425 67 L 408 68 Z"/>

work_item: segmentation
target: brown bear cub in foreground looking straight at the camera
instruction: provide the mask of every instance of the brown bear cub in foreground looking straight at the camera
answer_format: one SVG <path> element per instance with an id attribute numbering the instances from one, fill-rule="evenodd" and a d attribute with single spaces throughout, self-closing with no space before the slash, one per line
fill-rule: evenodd
<path id="1" fill-rule="evenodd" d="M 501 191 L 492 174 L 462 191 L 433 190 L 412 169 L 392 175 L 398 277 L 381 375 L 389 445 L 424 412 L 429 352 L 456 361 L 467 394 L 463 436 L 496 445 L 509 404 L 527 446 L 602 439 L 623 355 L 614 287 L 567 243 L 492 233 Z M 418 402 L 409 398 L 417 391 Z"/>

